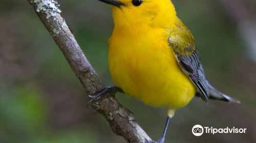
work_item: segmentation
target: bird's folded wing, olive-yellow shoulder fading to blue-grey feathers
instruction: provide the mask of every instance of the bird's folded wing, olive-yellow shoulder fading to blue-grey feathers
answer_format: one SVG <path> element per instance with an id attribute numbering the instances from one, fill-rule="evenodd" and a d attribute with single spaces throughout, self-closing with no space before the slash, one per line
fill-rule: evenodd
<path id="1" fill-rule="evenodd" d="M 202 99 L 207 102 L 209 98 L 207 80 L 193 35 L 186 28 L 178 28 L 170 31 L 168 42 L 181 69 L 195 84 Z"/>

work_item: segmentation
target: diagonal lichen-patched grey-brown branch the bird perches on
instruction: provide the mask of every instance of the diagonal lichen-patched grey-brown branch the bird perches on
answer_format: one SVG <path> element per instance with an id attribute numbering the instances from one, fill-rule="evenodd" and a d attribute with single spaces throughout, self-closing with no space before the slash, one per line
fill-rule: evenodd
<path id="1" fill-rule="evenodd" d="M 84 56 L 65 20 L 61 17 L 57 2 L 54 0 L 27 1 L 53 37 L 86 93 L 101 89 L 103 87 L 102 82 L 86 56 Z M 127 142 L 147 142 L 151 140 L 136 123 L 133 113 L 120 105 L 114 95 L 100 99 L 92 107 L 106 118 L 113 132 L 121 135 Z"/>

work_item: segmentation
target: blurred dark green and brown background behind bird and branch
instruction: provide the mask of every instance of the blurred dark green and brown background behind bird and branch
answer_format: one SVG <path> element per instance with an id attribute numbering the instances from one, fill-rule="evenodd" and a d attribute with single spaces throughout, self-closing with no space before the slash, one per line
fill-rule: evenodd
<path id="1" fill-rule="evenodd" d="M 108 37 L 113 29 L 110 7 L 96 0 L 58 2 L 100 79 L 113 85 L 107 63 Z M 255 1 L 240 2 L 256 15 Z M 245 36 L 249 34 L 243 33 L 241 26 L 255 19 L 241 16 L 239 22 L 241 17 L 232 17 L 221 1 L 174 0 L 174 4 L 195 36 L 209 81 L 242 103 L 205 104 L 195 98 L 177 111 L 166 142 L 256 142 L 256 63 Z M 155 140 L 161 136 L 164 109 L 145 106 L 121 93 L 116 97 L 134 112 L 148 135 Z M 125 142 L 100 114 L 86 107 L 87 102 L 82 86 L 27 1 L 2 0 L 0 142 Z M 191 128 L 196 124 L 247 128 L 247 133 L 195 137 Z"/>

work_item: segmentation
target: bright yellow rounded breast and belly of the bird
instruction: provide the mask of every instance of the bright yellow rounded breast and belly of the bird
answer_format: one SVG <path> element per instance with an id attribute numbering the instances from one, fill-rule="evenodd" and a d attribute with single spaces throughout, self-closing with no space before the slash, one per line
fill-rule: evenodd
<path id="1" fill-rule="evenodd" d="M 109 66 L 116 85 L 147 105 L 180 108 L 196 88 L 182 72 L 168 45 L 164 28 L 145 31 L 114 29 L 109 40 Z"/>

